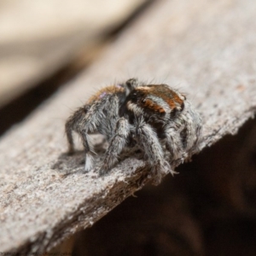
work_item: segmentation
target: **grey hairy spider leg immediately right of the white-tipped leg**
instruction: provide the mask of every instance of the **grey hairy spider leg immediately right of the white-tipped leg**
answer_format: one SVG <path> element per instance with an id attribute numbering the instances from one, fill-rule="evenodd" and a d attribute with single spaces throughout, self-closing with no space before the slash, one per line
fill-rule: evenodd
<path id="1" fill-rule="evenodd" d="M 101 174 L 108 171 L 118 161 L 118 156 L 122 149 L 125 147 L 127 137 L 130 135 L 130 125 L 128 120 L 124 117 L 120 118 L 116 125 L 108 146 L 108 150 L 105 153 L 105 157 L 101 167 Z"/>

